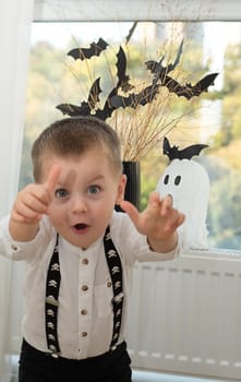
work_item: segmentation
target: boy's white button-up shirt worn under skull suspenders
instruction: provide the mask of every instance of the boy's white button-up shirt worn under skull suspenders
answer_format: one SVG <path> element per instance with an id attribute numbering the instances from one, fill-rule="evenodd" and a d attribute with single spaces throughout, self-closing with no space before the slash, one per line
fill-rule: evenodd
<path id="1" fill-rule="evenodd" d="M 45 288 L 57 232 L 47 216 L 35 239 L 16 242 L 9 234 L 9 217 L 0 222 L 0 254 L 26 262 L 23 336 L 36 349 L 47 351 L 45 333 Z M 161 261 L 178 256 L 174 251 L 149 250 L 146 237 L 138 234 L 128 214 L 113 212 L 110 222 L 113 244 L 121 258 L 124 305 L 119 343 L 126 333 L 132 270 L 135 261 Z M 59 238 L 61 285 L 58 335 L 61 356 L 84 359 L 109 350 L 112 336 L 112 286 L 103 237 L 86 250 Z"/>

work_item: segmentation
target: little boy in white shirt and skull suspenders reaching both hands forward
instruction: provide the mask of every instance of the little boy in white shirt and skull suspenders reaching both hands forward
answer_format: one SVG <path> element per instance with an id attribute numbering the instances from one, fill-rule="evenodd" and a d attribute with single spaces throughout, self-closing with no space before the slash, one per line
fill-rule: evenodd
<path id="1" fill-rule="evenodd" d="M 19 381 L 130 382 L 132 268 L 177 256 L 184 216 L 157 192 L 142 213 L 123 201 L 120 142 L 96 118 L 55 122 L 32 159 L 35 182 L 0 225 L 0 253 L 26 262 Z"/>

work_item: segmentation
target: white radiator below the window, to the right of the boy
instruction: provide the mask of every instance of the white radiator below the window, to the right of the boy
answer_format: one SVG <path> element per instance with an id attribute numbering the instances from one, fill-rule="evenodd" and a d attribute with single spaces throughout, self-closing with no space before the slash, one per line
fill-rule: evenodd
<path id="1" fill-rule="evenodd" d="M 241 381 L 241 253 L 137 264 L 128 343 L 136 368 Z"/>

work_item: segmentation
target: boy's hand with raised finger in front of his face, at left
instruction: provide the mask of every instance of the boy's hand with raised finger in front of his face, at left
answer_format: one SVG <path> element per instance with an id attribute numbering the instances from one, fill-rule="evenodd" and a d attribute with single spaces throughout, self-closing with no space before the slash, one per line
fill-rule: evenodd
<path id="1" fill-rule="evenodd" d="M 19 237 L 17 232 L 22 228 L 26 229 L 26 225 L 29 226 L 29 236 L 33 236 L 33 232 L 38 229 L 38 223 L 41 216 L 47 213 L 52 200 L 52 191 L 58 182 L 60 171 L 60 166 L 53 165 L 44 183 L 27 184 L 19 192 L 10 216 L 10 232 L 15 240 Z M 20 236 L 22 237 L 22 235 Z M 26 235 L 26 237 L 28 236 Z"/>

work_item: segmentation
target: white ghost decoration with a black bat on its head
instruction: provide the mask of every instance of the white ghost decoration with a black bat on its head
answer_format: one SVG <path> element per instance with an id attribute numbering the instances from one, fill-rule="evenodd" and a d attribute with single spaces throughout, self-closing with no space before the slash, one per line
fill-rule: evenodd
<path id="1" fill-rule="evenodd" d="M 168 145 L 168 150 L 165 150 L 165 145 L 166 148 Z M 185 215 L 184 223 L 178 229 L 182 231 L 184 247 L 192 249 L 208 248 L 206 217 L 209 177 L 202 165 L 191 159 L 193 155 L 197 155 L 195 150 L 200 152 L 203 147 L 206 145 L 190 146 L 192 152 L 190 154 L 189 147 L 183 151 L 179 151 L 177 146 L 171 148 L 165 139 L 164 153 L 171 162 L 157 184 L 160 198 L 170 194 L 174 208 Z M 189 158 L 184 158 L 184 155 Z"/>

